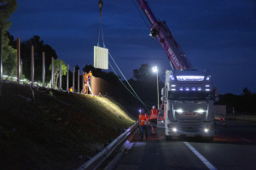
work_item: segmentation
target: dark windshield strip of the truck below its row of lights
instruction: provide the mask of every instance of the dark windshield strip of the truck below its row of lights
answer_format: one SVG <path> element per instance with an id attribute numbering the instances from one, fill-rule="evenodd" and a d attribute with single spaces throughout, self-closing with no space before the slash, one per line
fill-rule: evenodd
<path id="1" fill-rule="evenodd" d="M 169 91 L 168 99 L 175 100 L 211 100 L 212 93 L 211 92 L 177 92 L 177 91 Z"/>

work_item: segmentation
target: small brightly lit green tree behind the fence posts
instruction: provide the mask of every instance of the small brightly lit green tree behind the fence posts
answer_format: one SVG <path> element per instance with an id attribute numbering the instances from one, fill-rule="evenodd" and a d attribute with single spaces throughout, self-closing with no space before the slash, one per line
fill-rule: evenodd
<path id="1" fill-rule="evenodd" d="M 60 69 L 60 64 L 61 64 L 61 69 Z M 51 71 L 51 65 L 49 65 L 49 71 Z M 55 59 L 54 60 L 54 79 L 53 79 L 54 88 L 57 88 L 58 86 L 60 71 L 61 71 L 61 76 L 63 75 L 66 76 L 67 65 L 61 59 Z"/>

